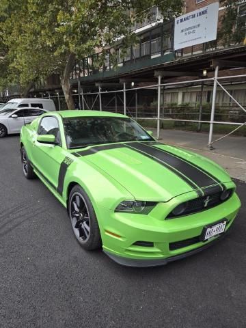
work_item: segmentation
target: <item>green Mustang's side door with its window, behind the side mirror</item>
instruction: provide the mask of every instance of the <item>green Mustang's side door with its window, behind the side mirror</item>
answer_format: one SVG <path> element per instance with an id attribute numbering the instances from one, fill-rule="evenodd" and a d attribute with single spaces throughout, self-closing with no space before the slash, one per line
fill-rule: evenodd
<path id="1" fill-rule="evenodd" d="M 37 141 L 38 135 L 55 135 L 57 145 Z M 34 167 L 53 189 L 58 186 L 59 169 L 64 161 L 65 150 L 61 148 L 59 122 L 54 116 L 44 116 L 38 126 L 38 133 L 33 135 L 31 158 Z"/>

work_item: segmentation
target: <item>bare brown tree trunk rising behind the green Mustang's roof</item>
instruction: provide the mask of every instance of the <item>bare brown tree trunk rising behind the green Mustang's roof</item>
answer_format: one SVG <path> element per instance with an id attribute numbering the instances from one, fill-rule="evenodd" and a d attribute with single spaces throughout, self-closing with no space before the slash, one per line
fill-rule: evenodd
<path id="1" fill-rule="evenodd" d="M 72 72 L 72 68 L 74 67 L 75 63 L 75 55 L 74 53 L 70 53 L 68 56 L 68 61 L 66 63 L 66 67 L 64 69 L 63 74 L 61 74 L 61 87 L 62 91 L 64 92 L 66 104 L 68 106 L 68 109 L 74 109 L 74 101 L 72 98 L 72 92 L 70 89 L 70 73 Z"/>

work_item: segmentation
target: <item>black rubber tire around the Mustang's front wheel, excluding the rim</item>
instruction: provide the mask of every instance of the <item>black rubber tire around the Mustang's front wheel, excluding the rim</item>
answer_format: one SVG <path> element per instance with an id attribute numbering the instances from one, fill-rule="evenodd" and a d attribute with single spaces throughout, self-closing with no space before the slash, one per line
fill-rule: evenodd
<path id="1" fill-rule="evenodd" d="M 86 202 L 86 205 L 87 205 L 87 208 L 88 208 L 89 214 L 90 214 L 90 237 L 89 237 L 88 241 L 86 243 L 83 243 L 78 238 L 76 238 L 76 239 L 77 239 L 79 245 L 81 245 L 81 247 L 83 247 L 83 249 L 86 249 L 87 251 L 92 251 L 94 249 L 100 249 L 102 247 L 102 240 L 100 237 L 100 230 L 99 230 L 99 226 L 98 226 L 98 221 L 96 219 L 96 213 L 94 211 L 94 208 L 92 206 L 92 202 L 90 201 L 90 198 L 88 197 L 87 193 L 85 193 L 85 191 L 79 186 L 79 184 L 74 186 L 72 188 L 72 190 L 70 191 L 69 201 L 68 201 L 69 219 L 70 219 L 70 221 L 72 221 L 71 216 L 70 216 L 70 200 L 74 193 L 81 193 L 81 195 L 83 196 L 83 198 Z M 72 226 L 72 223 L 71 223 L 71 226 Z"/>

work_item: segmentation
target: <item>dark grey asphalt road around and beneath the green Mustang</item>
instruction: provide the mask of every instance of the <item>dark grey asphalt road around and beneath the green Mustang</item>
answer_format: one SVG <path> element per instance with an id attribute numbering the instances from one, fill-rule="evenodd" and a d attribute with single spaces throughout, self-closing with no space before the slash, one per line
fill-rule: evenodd
<path id="1" fill-rule="evenodd" d="M 165 267 L 120 267 L 75 240 L 66 210 L 0 139 L 0 327 L 246 326 L 246 184 L 228 236 Z"/>

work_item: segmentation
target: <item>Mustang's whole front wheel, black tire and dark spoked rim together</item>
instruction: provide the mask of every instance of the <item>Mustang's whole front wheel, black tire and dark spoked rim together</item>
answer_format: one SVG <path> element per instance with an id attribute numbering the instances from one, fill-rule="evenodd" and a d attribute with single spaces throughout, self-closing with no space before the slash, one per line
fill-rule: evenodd
<path id="1" fill-rule="evenodd" d="M 87 250 L 102 246 L 96 214 L 90 198 L 76 185 L 72 188 L 68 201 L 68 215 L 77 241 Z"/>

